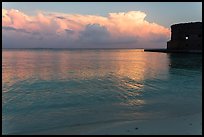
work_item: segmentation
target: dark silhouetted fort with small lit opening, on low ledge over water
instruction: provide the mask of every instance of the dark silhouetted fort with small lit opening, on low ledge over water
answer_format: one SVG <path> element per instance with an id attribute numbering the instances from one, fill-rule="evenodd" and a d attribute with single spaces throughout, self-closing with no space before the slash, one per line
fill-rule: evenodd
<path id="1" fill-rule="evenodd" d="M 147 49 L 152 52 L 202 53 L 202 22 L 179 23 L 171 26 L 167 49 Z"/>

